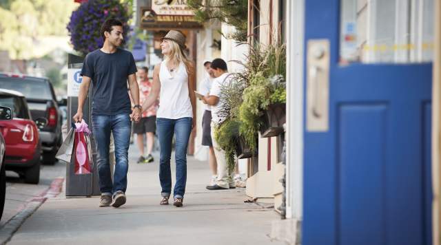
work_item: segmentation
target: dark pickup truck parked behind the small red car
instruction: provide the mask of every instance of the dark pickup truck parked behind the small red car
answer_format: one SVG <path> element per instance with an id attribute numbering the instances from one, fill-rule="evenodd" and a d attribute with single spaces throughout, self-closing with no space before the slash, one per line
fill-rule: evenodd
<path id="1" fill-rule="evenodd" d="M 0 73 L 0 87 L 23 94 L 28 102 L 32 118 L 46 118 L 48 123 L 39 128 L 43 163 L 54 164 L 55 154 L 63 138 L 61 136 L 61 113 L 52 83 L 48 78 Z"/>

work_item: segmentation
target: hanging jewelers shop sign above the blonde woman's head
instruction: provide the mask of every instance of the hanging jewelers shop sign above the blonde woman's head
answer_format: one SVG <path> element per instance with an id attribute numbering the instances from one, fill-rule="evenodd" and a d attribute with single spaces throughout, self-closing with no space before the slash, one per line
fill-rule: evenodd
<path id="1" fill-rule="evenodd" d="M 146 30 L 202 28 L 187 0 L 152 0 L 150 8 L 141 8 L 140 25 Z"/>

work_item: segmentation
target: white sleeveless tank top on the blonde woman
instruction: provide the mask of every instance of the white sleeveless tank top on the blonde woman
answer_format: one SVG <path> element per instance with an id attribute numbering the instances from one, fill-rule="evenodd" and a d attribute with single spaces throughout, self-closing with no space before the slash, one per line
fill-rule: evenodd
<path id="1" fill-rule="evenodd" d="M 188 74 L 185 65 L 181 62 L 172 74 L 167 69 L 165 61 L 161 62 L 159 70 L 161 92 L 157 118 L 192 118 L 192 103 L 188 93 Z"/>

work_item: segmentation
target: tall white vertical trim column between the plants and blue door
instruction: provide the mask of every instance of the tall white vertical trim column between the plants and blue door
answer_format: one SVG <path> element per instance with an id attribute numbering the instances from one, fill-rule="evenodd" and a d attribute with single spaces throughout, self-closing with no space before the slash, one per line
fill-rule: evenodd
<path id="1" fill-rule="evenodd" d="M 303 47 L 305 0 L 287 1 L 287 218 L 303 210 Z M 289 14 L 288 14 L 289 13 Z"/>

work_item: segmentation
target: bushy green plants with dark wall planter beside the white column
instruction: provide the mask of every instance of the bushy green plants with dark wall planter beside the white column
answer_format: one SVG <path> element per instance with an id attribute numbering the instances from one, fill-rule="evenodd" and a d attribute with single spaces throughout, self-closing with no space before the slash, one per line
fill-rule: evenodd
<path id="1" fill-rule="evenodd" d="M 247 57 L 247 87 L 239 108 L 240 135 L 249 145 L 256 145 L 258 131 L 262 137 L 278 136 L 285 123 L 285 44 L 250 47 Z"/>

